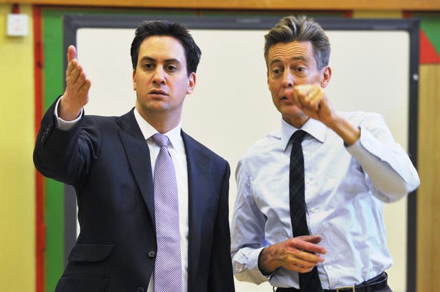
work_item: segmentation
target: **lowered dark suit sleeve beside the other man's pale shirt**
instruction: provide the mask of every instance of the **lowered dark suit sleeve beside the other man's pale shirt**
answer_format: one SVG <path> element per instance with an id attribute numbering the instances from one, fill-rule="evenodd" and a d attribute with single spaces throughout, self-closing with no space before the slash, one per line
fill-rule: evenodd
<path id="1" fill-rule="evenodd" d="M 230 167 L 225 164 L 223 183 L 214 224 L 214 238 L 208 282 L 210 291 L 235 291 L 234 276 L 232 276 L 232 260 L 230 256 L 230 228 L 229 228 L 229 177 Z"/>

